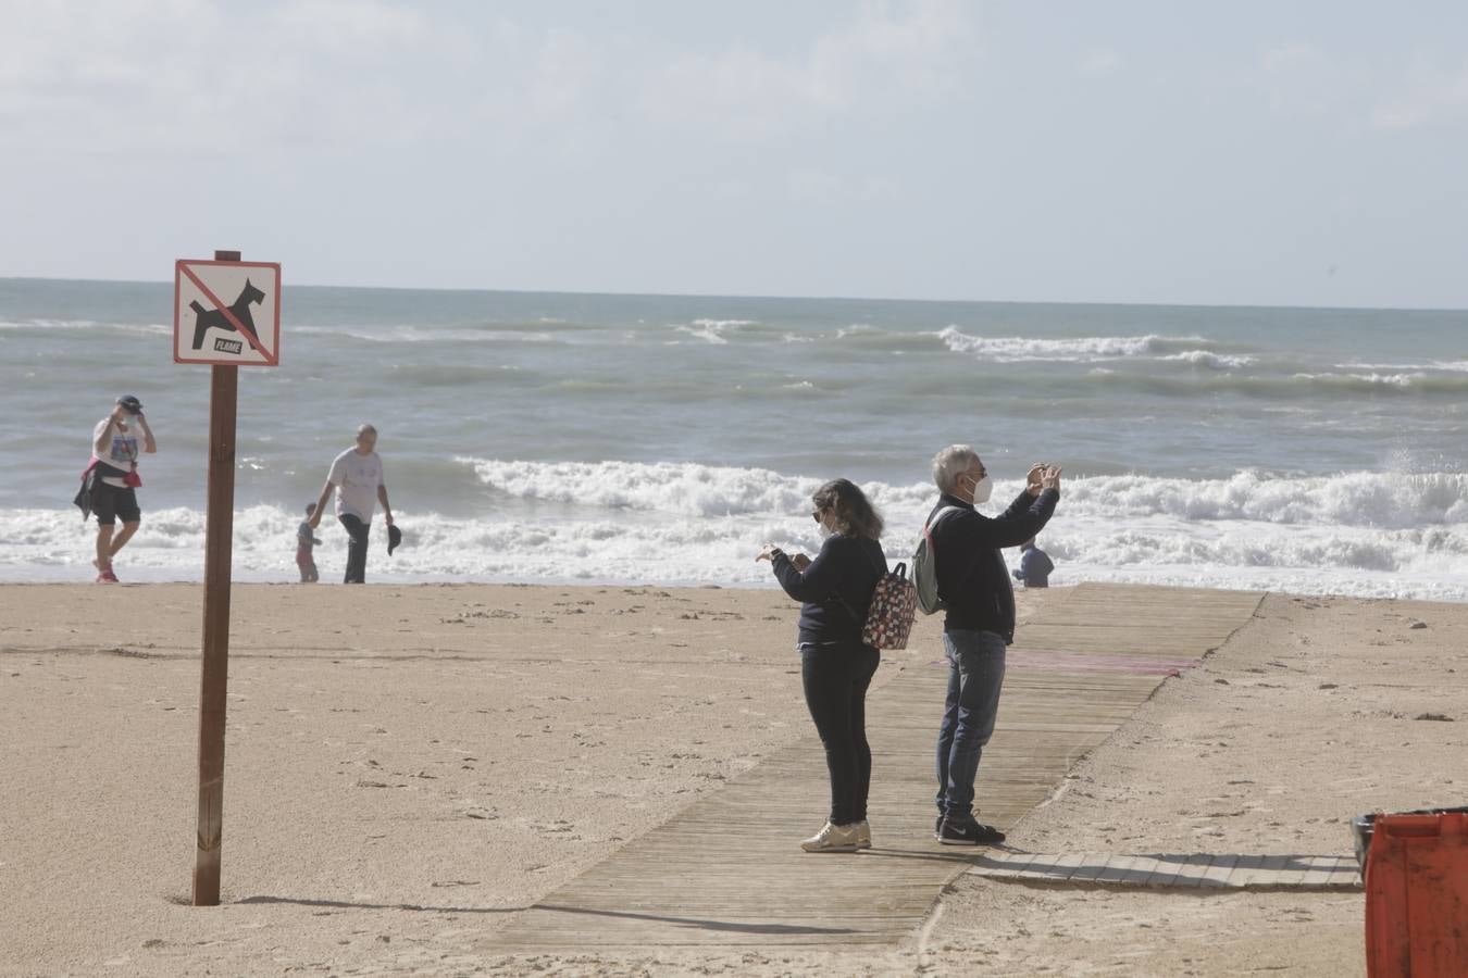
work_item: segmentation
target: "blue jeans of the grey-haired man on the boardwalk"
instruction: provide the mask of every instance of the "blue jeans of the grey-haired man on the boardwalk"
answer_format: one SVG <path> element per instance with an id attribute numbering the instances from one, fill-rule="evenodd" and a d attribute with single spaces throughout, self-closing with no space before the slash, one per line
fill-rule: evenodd
<path id="1" fill-rule="evenodd" d="M 948 657 L 948 698 L 938 729 L 938 811 L 973 817 L 973 779 L 984 745 L 994 735 L 1004 685 L 1004 636 L 954 630 L 942 636 Z"/>

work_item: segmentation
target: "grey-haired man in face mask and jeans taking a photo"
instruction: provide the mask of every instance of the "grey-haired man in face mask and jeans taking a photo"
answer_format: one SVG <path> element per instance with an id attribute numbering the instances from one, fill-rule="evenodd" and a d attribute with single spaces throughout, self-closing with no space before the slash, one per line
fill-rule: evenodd
<path id="1" fill-rule="evenodd" d="M 992 845 L 1004 842 L 1004 833 L 975 817 L 973 780 L 998 717 L 1004 650 L 1014 641 L 1014 589 L 1000 548 L 1017 547 L 1050 522 L 1060 500 L 1060 466 L 1033 465 L 1025 490 L 995 518 L 975 509 L 989 500 L 992 482 L 972 447 L 953 444 L 940 452 L 932 478 L 941 496 L 928 526 L 948 657 L 934 830 L 948 846 Z"/>

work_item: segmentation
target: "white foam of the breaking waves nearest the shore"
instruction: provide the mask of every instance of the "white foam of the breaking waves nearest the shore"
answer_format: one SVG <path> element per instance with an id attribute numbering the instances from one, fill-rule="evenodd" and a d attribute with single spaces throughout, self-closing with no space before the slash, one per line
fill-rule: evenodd
<path id="1" fill-rule="evenodd" d="M 405 543 L 386 554 L 374 521 L 368 579 L 382 582 L 597 582 L 772 587 L 755 563 L 766 543 L 815 553 L 810 493 L 822 479 L 771 469 L 640 462 L 459 459 L 490 515 L 462 519 L 396 507 Z M 866 482 L 887 519 L 888 559 L 907 560 L 935 501 L 926 482 Z M 981 507 L 1020 490 L 1001 481 Z M 495 500 L 499 500 L 496 504 Z M 295 579 L 298 512 L 235 513 L 235 578 Z M 95 526 L 75 510 L 0 510 L 0 579 L 90 579 Z M 333 581 L 345 534 L 321 523 L 317 563 Z M 1066 478 L 1041 535 L 1055 584 L 1135 581 L 1191 587 L 1468 600 L 1468 475 L 1453 472 L 1224 479 Z M 144 515 L 119 557 L 125 581 L 198 581 L 204 515 Z M 1009 554 L 1013 560 L 1013 551 Z"/>

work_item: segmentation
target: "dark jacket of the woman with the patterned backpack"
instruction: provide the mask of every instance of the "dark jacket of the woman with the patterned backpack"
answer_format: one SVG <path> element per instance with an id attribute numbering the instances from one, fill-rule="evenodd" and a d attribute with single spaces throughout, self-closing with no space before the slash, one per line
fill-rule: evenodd
<path id="1" fill-rule="evenodd" d="M 887 573 L 887 554 L 879 543 L 832 534 L 804 572 L 796 570 L 784 551 L 775 553 L 774 565 L 780 587 L 803 603 L 802 642 L 862 641 L 872 589 Z"/>

